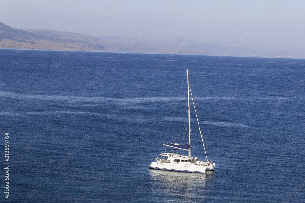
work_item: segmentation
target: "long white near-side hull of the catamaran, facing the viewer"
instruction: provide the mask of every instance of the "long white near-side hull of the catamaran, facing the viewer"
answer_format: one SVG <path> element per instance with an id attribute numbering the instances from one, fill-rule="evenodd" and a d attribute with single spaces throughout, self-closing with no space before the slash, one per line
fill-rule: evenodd
<path id="1" fill-rule="evenodd" d="M 149 169 L 188 172 L 188 173 L 205 173 L 206 166 L 197 165 L 196 163 L 162 163 L 152 162 Z"/>

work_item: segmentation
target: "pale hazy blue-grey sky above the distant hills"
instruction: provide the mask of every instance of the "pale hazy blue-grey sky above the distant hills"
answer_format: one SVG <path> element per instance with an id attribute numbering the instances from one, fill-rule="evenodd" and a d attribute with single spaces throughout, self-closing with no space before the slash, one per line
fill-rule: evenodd
<path id="1" fill-rule="evenodd" d="M 289 48 L 305 47 L 304 0 L 1 0 L 0 8 L 13 28 L 135 37 L 150 23 L 143 38 L 274 49 L 290 38 Z"/>

